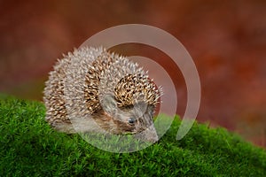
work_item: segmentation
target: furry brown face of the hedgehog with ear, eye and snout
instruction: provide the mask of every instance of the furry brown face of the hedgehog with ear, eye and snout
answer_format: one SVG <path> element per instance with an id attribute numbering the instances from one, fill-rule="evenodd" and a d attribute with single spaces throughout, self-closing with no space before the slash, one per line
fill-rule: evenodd
<path id="1" fill-rule="evenodd" d="M 113 96 L 106 96 L 102 104 L 105 113 L 104 117 L 108 117 L 105 129 L 113 134 L 126 135 L 145 132 L 145 139 L 150 142 L 158 140 L 155 128 L 153 127 L 154 105 L 139 102 L 134 105 L 117 107 L 117 102 Z M 113 128 L 115 127 L 115 128 Z"/>

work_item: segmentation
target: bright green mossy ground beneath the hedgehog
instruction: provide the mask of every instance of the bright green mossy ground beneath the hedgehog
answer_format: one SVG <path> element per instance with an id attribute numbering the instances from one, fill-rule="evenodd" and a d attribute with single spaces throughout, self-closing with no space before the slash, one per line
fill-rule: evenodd
<path id="1" fill-rule="evenodd" d="M 145 150 L 98 150 L 45 122 L 42 103 L 0 96 L 0 176 L 265 176 L 266 151 L 223 128 L 195 123 L 176 141 L 180 119 Z"/>

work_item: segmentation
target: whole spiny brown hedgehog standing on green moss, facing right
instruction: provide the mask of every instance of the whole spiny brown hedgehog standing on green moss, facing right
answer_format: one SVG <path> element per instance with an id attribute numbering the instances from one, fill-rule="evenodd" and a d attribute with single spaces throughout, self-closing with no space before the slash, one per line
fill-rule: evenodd
<path id="1" fill-rule="evenodd" d="M 63 54 L 43 90 L 46 121 L 59 132 L 136 135 L 157 142 L 153 115 L 162 89 L 144 69 L 103 47 Z"/>

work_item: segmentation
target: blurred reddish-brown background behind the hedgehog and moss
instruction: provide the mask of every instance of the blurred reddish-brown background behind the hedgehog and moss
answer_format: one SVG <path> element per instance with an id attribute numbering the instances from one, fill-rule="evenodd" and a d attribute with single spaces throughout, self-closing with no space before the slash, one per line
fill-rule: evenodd
<path id="1" fill-rule="evenodd" d="M 160 27 L 184 44 L 200 73 L 198 120 L 266 146 L 266 1 L 0 1 L 0 92 L 42 100 L 44 81 L 62 53 L 107 27 Z M 183 114 L 182 73 L 148 46 L 124 55 L 165 61 Z M 174 93 L 173 93 L 174 94 Z M 170 105 L 169 105 L 170 106 Z"/>

